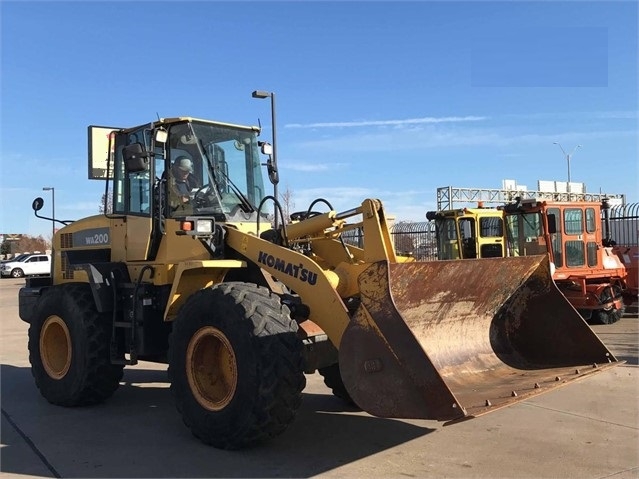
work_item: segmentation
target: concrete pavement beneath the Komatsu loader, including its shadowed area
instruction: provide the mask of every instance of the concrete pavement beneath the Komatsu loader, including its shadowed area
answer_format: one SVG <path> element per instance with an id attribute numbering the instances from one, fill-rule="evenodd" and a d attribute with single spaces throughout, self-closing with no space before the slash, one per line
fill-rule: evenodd
<path id="1" fill-rule="evenodd" d="M 200 443 L 172 401 L 166 367 L 127 367 L 104 404 L 62 408 L 30 372 L 22 280 L 0 281 L 2 478 L 433 477 L 639 478 L 639 318 L 593 329 L 626 363 L 479 418 L 383 419 L 350 409 L 307 376 L 281 436 L 221 451 Z"/>

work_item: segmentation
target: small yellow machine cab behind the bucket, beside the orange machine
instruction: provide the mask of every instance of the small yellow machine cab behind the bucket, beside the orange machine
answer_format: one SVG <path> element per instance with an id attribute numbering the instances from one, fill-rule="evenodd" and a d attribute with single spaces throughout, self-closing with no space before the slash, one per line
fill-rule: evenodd
<path id="1" fill-rule="evenodd" d="M 435 220 L 438 259 L 504 256 L 501 211 L 489 208 L 462 208 L 430 213 L 427 218 Z"/>

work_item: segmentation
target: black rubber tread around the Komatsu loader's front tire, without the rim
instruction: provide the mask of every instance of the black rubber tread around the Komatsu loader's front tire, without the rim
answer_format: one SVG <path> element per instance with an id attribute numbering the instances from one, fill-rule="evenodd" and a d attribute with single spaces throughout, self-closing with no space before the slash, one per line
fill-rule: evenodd
<path id="1" fill-rule="evenodd" d="M 233 432 L 227 427 L 226 433 L 220 434 L 213 417 L 209 416 L 204 425 L 191 419 L 191 411 L 185 407 L 182 397 L 185 391 L 177 386 L 181 373 L 174 361 L 170 361 L 171 390 L 184 423 L 202 442 L 222 449 L 249 447 L 281 434 L 294 420 L 306 385 L 302 343 L 296 334 L 282 334 L 296 332 L 297 323 L 290 318 L 288 308 L 282 305 L 279 297 L 268 289 L 251 283 L 221 283 L 195 293 L 183 306 L 169 339 L 170 349 L 176 347 L 176 338 L 182 334 L 180 321 L 188 321 L 188 315 L 194 312 L 189 305 L 206 301 L 226 305 L 225 310 L 233 308 L 241 314 L 241 327 L 251 335 L 258 358 L 259 393 L 251 409 L 242 413 L 241 427 L 234 428 Z M 277 340 L 260 340 L 264 337 Z"/>

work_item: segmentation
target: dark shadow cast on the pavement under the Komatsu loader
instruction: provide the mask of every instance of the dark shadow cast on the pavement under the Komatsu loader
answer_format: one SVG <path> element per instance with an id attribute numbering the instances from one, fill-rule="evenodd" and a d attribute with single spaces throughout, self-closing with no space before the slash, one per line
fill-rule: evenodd
<path id="1" fill-rule="evenodd" d="M 436 430 L 358 412 L 330 393 L 304 393 L 284 434 L 229 452 L 190 434 L 166 371 L 125 369 L 112 398 L 85 408 L 49 404 L 29 368 L 2 365 L 0 376 L 3 424 L 19 429 L 2 429 L 3 473 L 30 474 L 27 464 L 11 460 L 26 445 L 59 477 L 310 477 Z"/>

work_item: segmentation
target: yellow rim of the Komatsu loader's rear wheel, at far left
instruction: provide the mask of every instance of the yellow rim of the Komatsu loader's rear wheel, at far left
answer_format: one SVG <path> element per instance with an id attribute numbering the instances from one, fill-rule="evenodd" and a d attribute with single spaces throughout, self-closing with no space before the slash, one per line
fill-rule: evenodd
<path id="1" fill-rule="evenodd" d="M 71 367 L 71 335 L 59 316 L 49 316 L 42 325 L 40 358 L 53 379 L 62 379 Z"/>

